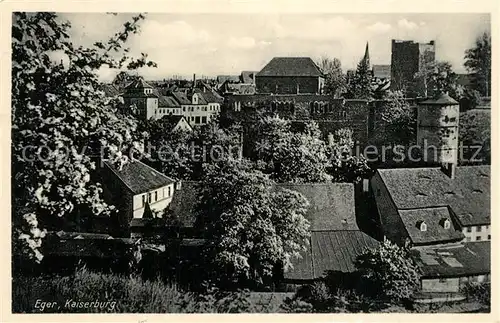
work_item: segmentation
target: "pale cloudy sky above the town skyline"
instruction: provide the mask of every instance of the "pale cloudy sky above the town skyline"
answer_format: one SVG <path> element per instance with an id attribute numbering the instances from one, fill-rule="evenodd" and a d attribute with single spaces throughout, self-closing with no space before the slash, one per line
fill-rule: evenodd
<path id="1" fill-rule="evenodd" d="M 132 14 L 64 13 L 76 44 L 107 40 Z M 336 57 L 354 69 L 369 43 L 372 64 L 390 64 L 391 39 L 436 42 L 436 59 L 465 72 L 464 51 L 490 30 L 488 14 L 167 14 L 149 13 L 128 45 L 147 53 L 158 68 L 145 79 L 192 78 L 259 71 L 275 56 Z M 103 70 L 110 81 L 116 71 Z"/>

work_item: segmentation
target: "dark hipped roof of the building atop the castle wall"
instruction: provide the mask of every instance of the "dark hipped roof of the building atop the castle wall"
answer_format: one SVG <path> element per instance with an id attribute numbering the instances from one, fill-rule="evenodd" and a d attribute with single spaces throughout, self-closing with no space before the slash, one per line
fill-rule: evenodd
<path id="1" fill-rule="evenodd" d="M 256 76 L 323 76 L 310 57 L 275 57 Z"/>

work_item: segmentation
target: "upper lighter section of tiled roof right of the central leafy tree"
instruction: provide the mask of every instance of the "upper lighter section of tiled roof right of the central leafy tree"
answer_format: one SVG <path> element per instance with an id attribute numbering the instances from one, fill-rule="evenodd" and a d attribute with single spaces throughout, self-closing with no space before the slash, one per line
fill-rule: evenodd
<path id="1" fill-rule="evenodd" d="M 359 230 L 353 184 L 277 184 L 277 187 L 302 193 L 309 200 L 306 217 L 311 222 L 311 231 Z"/>

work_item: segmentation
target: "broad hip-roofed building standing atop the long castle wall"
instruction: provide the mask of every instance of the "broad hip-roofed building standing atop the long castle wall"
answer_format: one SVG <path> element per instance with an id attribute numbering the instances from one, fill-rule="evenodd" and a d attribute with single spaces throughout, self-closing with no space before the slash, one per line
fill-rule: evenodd
<path id="1" fill-rule="evenodd" d="M 255 76 L 257 93 L 321 94 L 324 75 L 309 57 L 275 57 Z"/>

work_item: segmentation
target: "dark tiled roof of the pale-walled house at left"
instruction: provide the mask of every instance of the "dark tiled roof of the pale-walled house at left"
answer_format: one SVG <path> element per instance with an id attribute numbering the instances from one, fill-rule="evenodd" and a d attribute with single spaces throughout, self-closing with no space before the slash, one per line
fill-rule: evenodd
<path id="1" fill-rule="evenodd" d="M 136 160 L 121 170 L 105 161 L 104 164 L 134 193 L 141 194 L 174 183 L 174 180 Z"/>

